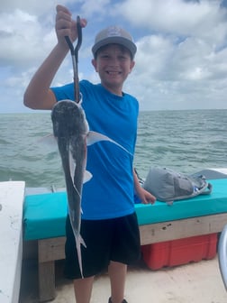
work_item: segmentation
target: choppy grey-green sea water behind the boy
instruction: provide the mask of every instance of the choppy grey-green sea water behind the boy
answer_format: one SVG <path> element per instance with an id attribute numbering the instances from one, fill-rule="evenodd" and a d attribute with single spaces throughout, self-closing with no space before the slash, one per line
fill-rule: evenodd
<path id="1" fill-rule="evenodd" d="M 57 148 L 42 142 L 52 133 L 50 112 L 0 115 L 0 181 L 27 187 L 65 187 Z M 227 110 L 150 111 L 139 116 L 134 167 L 195 173 L 227 167 Z"/>

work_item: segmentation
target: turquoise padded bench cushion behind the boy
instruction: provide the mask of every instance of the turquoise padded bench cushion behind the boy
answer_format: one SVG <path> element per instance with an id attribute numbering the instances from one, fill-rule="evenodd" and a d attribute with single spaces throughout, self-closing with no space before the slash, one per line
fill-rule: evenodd
<path id="1" fill-rule="evenodd" d="M 211 179 L 209 182 L 213 185 L 211 195 L 175 201 L 172 206 L 159 201 L 154 205 L 136 204 L 139 225 L 227 212 L 227 179 Z M 23 208 L 24 240 L 64 236 L 66 216 L 66 192 L 26 196 Z"/>

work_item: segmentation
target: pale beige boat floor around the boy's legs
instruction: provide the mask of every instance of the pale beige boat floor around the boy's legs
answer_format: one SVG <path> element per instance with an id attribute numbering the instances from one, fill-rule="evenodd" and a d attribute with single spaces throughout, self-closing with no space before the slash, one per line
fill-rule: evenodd
<path id="1" fill-rule="evenodd" d="M 57 265 L 57 297 L 52 303 L 75 303 L 70 281 L 62 274 L 63 263 Z M 36 282 L 36 283 L 35 283 Z M 91 303 L 107 303 L 110 285 L 107 274 L 95 278 Z M 129 303 L 226 303 L 217 258 L 189 263 L 174 268 L 150 271 L 144 265 L 128 271 L 125 298 Z M 38 303 L 36 264 L 23 271 L 20 303 Z"/>

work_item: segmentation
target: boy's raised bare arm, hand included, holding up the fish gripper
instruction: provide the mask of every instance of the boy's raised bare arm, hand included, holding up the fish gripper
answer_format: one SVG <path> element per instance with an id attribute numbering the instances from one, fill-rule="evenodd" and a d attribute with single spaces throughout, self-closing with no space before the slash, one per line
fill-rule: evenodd
<path id="1" fill-rule="evenodd" d="M 85 19 L 81 19 L 81 26 L 86 26 Z M 33 109 L 51 109 L 56 103 L 50 85 L 68 53 L 65 36 L 70 37 L 71 41 L 77 39 L 77 23 L 71 19 L 68 9 L 62 5 L 57 5 L 55 30 L 58 43 L 34 74 L 23 96 L 24 105 Z"/>

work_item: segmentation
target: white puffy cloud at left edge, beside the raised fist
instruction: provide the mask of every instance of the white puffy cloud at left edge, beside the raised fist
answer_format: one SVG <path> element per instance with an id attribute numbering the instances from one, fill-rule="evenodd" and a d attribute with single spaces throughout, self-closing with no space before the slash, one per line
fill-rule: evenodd
<path id="1" fill-rule="evenodd" d="M 20 9 L 0 14 L 0 28 L 0 63 L 12 69 L 40 61 L 56 39 L 53 29 L 45 30 L 36 15 Z"/>

